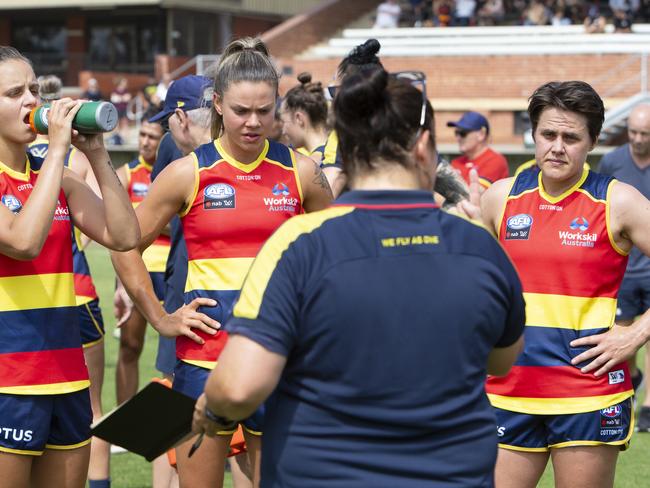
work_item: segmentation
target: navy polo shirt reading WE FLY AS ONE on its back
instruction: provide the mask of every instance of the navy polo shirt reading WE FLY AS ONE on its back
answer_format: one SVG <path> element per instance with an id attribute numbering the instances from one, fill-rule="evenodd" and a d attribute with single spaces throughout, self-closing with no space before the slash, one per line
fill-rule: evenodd
<path id="1" fill-rule="evenodd" d="M 287 358 L 262 486 L 492 486 L 486 362 L 524 301 L 484 228 L 429 192 L 350 191 L 275 232 L 233 314 L 229 333 Z"/>

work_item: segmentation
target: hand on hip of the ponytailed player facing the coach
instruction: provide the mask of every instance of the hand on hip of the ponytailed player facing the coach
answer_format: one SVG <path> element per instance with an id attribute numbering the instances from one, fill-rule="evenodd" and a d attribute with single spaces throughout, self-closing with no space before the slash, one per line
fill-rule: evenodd
<path id="1" fill-rule="evenodd" d="M 192 328 L 197 328 L 206 334 L 214 335 L 221 328 L 221 324 L 206 314 L 198 312 L 197 309 L 199 307 L 215 307 L 216 305 L 217 301 L 211 298 L 195 298 L 174 313 L 163 315 L 152 325 L 164 337 L 178 337 L 183 335 L 189 337 L 197 344 L 203 345 L 205 341 Z"/>

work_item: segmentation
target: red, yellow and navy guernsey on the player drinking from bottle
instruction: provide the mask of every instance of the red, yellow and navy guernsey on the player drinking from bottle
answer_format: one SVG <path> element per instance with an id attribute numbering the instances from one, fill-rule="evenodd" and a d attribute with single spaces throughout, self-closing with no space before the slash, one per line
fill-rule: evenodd
<path id="1" fill-rule="evenodd" d="M 43 158 L 18 173 L 0 163 L 1 203 L 20 212 Z M 72 226 L 63 190 L 36 259 L 0 254 L 0 393 L 42 395 L 87 388 L 72 269 Z"/>

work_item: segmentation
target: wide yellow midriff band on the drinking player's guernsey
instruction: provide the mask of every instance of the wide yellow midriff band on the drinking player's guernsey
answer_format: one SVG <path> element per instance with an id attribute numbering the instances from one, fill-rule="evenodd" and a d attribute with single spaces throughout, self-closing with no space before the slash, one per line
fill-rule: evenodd
<path id="1" fill-rule="evenodd" d="M 77 305 L 72 273 L 0 278 L 0 289 L 0 312 Z"/>

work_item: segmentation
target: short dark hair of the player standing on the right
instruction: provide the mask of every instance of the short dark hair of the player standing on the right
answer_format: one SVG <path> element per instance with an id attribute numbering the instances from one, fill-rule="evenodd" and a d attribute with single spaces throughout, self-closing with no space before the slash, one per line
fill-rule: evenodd
<path id="1" fill-rule="evenodd" d="M 575 112 L 587 119 L 591 142 L 596 142 L 605 120 L 605 106 L 596 90 L 584 81 L 551 81 L 546 83 L 528 99 L 528 115 L 533 136 L 542 112 L 547 108 L 558 108 Z"/>

